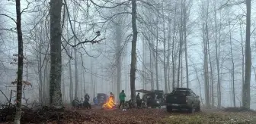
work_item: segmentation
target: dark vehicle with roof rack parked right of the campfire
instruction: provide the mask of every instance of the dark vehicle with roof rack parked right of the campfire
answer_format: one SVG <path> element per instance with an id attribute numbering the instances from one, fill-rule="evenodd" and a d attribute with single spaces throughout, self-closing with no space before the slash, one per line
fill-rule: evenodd
<path id="1" fill-rule="evenodd" d="M 200 111 L 199 96 L 190 88 L 174 88 L 171 94 L 166 95 L 165 103 L 168 112 L 174 109 L 186 109 L 189 113 Z"/>

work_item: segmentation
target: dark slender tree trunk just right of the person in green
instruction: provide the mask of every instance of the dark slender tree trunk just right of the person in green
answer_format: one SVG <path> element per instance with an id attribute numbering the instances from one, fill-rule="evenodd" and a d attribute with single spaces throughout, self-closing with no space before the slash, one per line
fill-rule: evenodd
<path id="1" fill-rule="evenodd" d="M 133 27 L 133 39 L 132 39 L 132 55 L 131 55 L 131 67 L 130 67 L 130 90 L 131 100 L 136 106 L 136 91 L 135 91 L 135 79 L 136 79 L 136 42 L 137 42 L 137 26 L 136 26 L 136 0 L 132 0 L 132 27 Z"/>

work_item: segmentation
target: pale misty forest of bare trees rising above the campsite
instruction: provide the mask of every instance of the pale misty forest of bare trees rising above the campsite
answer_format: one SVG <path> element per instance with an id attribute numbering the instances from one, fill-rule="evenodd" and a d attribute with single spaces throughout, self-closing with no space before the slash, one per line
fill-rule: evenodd
<path id="1" fill-rule="evenodd" d="M 18 3 L 0 12 L 0 89 L 18 93 L 11 101 L 62 107 L 124 90 L 135 103 L 135 89 L 188 87 L 205 107 L 256 109 L 250 0 Z"/>

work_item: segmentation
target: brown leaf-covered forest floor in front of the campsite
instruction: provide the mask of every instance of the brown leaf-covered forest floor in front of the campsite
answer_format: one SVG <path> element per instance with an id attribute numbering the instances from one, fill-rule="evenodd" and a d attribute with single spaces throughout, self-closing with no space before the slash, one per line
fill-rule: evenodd
<path id="1" fill-rule="evenodd" d="M 173 112 L 165 109 L 120 109 L 91 110 L 66 107 L 64 112 L 57 112 L 50 107 L 37 111 L 24 110 L 21 123 L 70 123 L 70 124 L 256 124 L 256 112 L 230 112 L 238 110 L 205 110 L 200 113 Z M 9 116 L 8 122 L 13 122 Z M 59 119 L 59 121 L 57 121 Z M 6 123 L 6 122 L 5 122 Z M 1 121 L 0 121 L 1 124 Z"/>

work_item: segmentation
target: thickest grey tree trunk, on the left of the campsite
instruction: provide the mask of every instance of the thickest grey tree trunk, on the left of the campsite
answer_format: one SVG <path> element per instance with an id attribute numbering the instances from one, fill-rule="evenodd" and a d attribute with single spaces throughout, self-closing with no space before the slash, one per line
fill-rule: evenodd
<path id="1" fill-rule="evenodd" d="M 50 1 L 50 106 L 62 108 L 61 94 L 61 10 L 62 0 Z"/>

